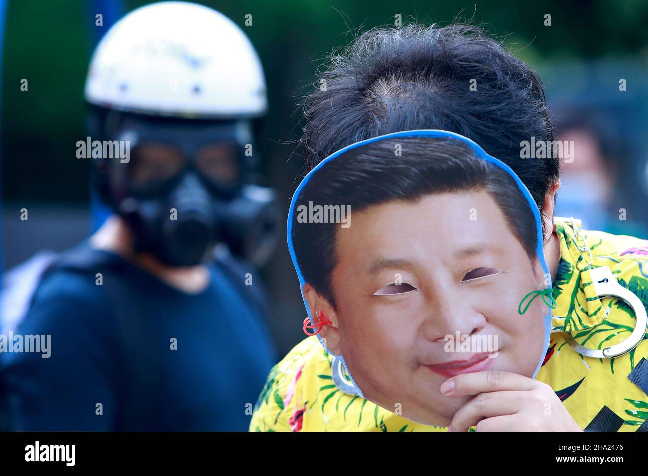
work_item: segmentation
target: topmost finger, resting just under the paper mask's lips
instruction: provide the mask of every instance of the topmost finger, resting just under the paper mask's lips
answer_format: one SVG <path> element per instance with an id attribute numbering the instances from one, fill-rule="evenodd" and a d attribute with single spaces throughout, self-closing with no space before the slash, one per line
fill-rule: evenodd
<path id="1" fill-rule="evenodd" d="M 529 391 L 537 385 L 537 381 L 513 372 L 482 370 L 449 378 L 441 385 L 441 393 L 468 396 L 481 392 Z"/>

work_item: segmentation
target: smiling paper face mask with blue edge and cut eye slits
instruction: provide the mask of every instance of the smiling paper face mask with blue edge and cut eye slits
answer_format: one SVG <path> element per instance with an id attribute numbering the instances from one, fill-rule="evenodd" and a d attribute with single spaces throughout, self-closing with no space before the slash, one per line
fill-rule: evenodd
<path id="1" fill-rule="evenodd" d="M 535 378 L 542 365 L 551 278 L 537 205 L 461 135 L 403 131 L 333 153 L 294 194 L 288 247 L 304 330 L 334 356 L 342 391 L 445 426 L 469 400 L 441 394 L 448 378 Z"/>

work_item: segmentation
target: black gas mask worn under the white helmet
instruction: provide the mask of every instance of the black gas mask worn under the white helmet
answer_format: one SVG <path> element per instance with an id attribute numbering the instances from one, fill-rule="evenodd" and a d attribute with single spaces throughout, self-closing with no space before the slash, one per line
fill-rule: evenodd
<path id="1" fill-rule="evenodd" d="M 128 115 L 110 135 L 129 153 L 110 159 L 104 188 L 135 251 L 170 266 L 209 260 L 219 243 L 257 266 L 270 256 L 278 210 L 274 192 L 253 183 L 248 122 Z"/>

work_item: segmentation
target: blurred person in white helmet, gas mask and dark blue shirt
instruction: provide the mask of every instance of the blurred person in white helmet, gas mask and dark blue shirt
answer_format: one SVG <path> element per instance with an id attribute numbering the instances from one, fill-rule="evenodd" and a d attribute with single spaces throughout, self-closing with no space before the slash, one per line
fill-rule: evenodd
<path id="1" fill-rule="evenodd" d="M 211 8 L 157 3 L 100 41 L 85 95 L 77 157 L 111 215 L 16 330 L 50 335 L 51 355 L 3 360 L 12 429 L 244 430 L 275 357 L 251 264 L 277 218 L 251 153 L 259 58 Z"/>

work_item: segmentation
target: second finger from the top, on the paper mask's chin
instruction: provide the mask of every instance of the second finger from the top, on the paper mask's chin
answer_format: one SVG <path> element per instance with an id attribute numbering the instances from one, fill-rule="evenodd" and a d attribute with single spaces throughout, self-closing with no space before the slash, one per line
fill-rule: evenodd
<path id="1" fill-rule="evenodd" d="M 527 392 L 483 392 L 471 398 L 459 408 L 448 431 L 468 431 L 483 418 L 512 415 L 518 413 L 524 405 Z"/>

